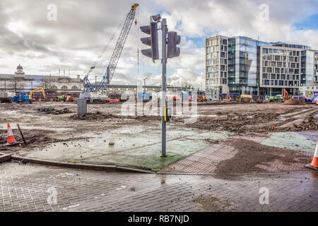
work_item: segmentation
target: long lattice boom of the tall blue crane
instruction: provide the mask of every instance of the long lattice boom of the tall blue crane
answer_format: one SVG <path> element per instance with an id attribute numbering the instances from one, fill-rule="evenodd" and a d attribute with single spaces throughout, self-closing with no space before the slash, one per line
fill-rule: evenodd
<path id="1" fill-rule="evenodd" d="M 119 61 L 119 57 L 122 54 L 122 49 L 124 49 L 124 44 L 126 42 L 126 39 L 128 37 L 131 25 L 134 21 L 135 14 L 136 14 L 136 8 L 139 6 L 139 4 L 134 4 L 131 6 L 131 10 L 126 15 L 126 19 L 124 21 L 124 25 L 122 27 L 122 31 L 120 32 L 120 35 L 118 37 L 116 46 L 114 47 L 114 50 L 112 52 L 112 57 L 110 58 L 110 63 L 107 66 L 107 71 L 105 72 L 105 75 L 102 77 L 102 81 L 98 84 L 98 86 L 95 88 L 93 85 L 91 85 L 90 81 L 88 80 L 88 75 L 84 78 L 84 91 L 85 87 L 88 86 L 90 88 L 90 92 L 99 92 L 101 90 L 106 90 L 107 85 L 110 84 L 110 81 L 112 81 L 112 77 L 114 76 L 114 71 L 116 69 L 117 63 Z M 95 68 L 95 65 L 90 68 L 90 71 L 92 71 Z M 89 73 L 88 73 L 89 74 Z"/>

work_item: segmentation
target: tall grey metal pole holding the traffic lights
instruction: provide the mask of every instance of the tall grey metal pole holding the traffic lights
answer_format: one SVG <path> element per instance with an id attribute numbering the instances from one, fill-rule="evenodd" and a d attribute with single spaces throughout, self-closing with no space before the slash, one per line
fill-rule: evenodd
<path id="1" fill-rule="evenodd" d="M 167 20 L 165 18 L 163 18 L 162 22 L 161 22 L 161 30 L 163 33 L 163 38 L 162 38 L 162 44 L 163 44 L 163 57 L 161 59 L 161 63 L 163 64 L 163 78 L 162 78 L 162 82 L 163 82 L 163 88 L 162 88 L 162 96 L 161 96 L 161 101 L 162 101 L 162 109 L 161 109 L 161 157 L 167 157 L 167 155 L 165 154 L 165 140 L 166 140 L 166 121 L 165 121 L 165 108 L 166 106 L 166 101 L 165 101 L 165 94 L 167 91 L 167 87 L 166 87 L 166 63 L 167 63 L 167 56 L 166 56 L 166 47 L 167 47 Z"/>

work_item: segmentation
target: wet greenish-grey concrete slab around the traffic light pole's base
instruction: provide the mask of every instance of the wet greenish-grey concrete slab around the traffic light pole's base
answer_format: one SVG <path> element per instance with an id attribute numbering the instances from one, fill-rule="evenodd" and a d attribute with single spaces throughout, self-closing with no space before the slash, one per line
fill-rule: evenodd
<path id="1" fill-rule="evenodd" d="M 170 129 L 169 127 L 165 158 L 160 157 L 160 129 L 149 126 L 131 126 L 111 133 L 100 133 L 98 138 L 88 138 L 85 141 L 52 143 L 24 156 L 61 162 L 119 163 L 156 170 L 208 147 L 211 142 L 223 141 L 230 134 L 224 131 Z M 110 138 L 114 139 L 114 145 L 108 145 Z"/>

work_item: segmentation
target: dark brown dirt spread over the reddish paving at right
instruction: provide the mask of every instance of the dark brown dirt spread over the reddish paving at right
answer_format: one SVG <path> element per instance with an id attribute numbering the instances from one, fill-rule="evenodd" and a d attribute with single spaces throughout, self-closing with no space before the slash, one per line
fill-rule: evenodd
<path id="1" fill-rule="evenodd" d="M 312 153 L 261 145 L 245 139 L 232 139 L 234 157 L 218 164 L 216 173 L 288 172 L 305 169 Z"/>

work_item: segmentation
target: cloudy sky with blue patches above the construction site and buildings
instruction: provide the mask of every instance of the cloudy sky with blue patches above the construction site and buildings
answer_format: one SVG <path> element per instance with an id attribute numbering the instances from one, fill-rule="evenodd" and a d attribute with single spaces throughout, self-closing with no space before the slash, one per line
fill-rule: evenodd
<path id="1" fill-rule="evenodd" d="M 137 49 L 147 48 L 139 41 L 144 36 L 139 26 L 158 13 L 167 18 L 170 31 L 182 36 L 180 57 L 167 64 L 170 85 L 204 85 L 204 45 L 211 35 L 259 37 L 318 49 L 318 0 L 1 0 L 0 73 L 14 73 L 22 64 L 27 74 L 58 75 L 60 69 L 61 74 L 65 70 L 83 78 L 134 3 L 139 4 L 138 23 L 131 26 L 114 84 L 136 84 L 141 78 L 160 84 L 160 61 L 153 64 L 140 54 L 137 70 Z M 57 6 L 57 20 L 47 19 L 50 4 Z M 91 81 L 101 78 L 114 44 L 91 73 Z"/>

